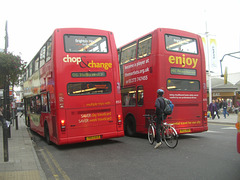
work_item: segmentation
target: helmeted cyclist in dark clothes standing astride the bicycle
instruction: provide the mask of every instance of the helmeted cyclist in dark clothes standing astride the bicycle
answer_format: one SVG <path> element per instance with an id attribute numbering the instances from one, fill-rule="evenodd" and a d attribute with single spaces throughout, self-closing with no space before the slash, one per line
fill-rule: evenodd
<path id="1" fill-rule="evenodd" d="M 154 146 L 154 148 L 158 148 L 159 146 L 161 146 L 162 144 L 162 138 L 160 137 L 160 129 L 161 129 L 161 124 L 162 121 L 165 119 L 164 116 L 164 100 L 163 100 L 163 94 L 164 91 L 162 89 L 158 89 L 157 90 L 157 99 L 155 101 L 155 107 L 156 107 L 156 115 L 157 115 L 157 119 L 156 119 L 156 139 L 157 139 L 157 143 Z"/>

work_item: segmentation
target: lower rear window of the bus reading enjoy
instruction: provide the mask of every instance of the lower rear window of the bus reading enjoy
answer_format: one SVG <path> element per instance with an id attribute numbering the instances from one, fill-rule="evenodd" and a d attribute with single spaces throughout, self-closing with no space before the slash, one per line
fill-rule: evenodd
<path id="1" fill-rule="evenodd" d="M 199 91 L 200 82 L 190 79 L 168 79 L 167 89 L 169 91 Z"/>

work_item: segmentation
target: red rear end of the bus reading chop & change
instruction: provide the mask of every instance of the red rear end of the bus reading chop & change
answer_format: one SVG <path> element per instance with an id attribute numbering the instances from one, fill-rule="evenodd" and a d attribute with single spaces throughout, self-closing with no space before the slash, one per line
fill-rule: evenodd
<path id="1" fill-rule="evenodd" d="M 50 140 L 70 144 L 124 136 L 113 34 L 56 29 L 53 59 L 56 118 Z"/>

